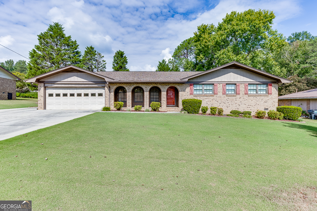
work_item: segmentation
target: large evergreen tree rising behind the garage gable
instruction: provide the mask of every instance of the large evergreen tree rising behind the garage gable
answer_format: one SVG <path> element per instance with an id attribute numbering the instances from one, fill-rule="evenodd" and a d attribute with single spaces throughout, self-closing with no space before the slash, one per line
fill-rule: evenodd
<path id="1" fill-rule="evenodd" d="M 28 78 L 67 65 L 80 65 L 79 45 L 71 36 L 66 36 L 61 24 L 49 25 L 49 28 L 37 37 L 38 45 L 29 52 Z"/>

